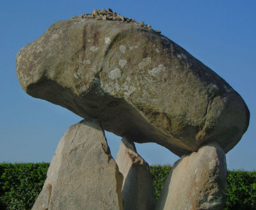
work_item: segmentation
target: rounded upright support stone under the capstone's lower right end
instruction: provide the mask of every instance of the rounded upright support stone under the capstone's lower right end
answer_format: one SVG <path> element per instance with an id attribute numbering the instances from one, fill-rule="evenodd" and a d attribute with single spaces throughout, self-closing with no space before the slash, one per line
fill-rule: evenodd
<path id="1" fill-rule="evenodd" d="M 223 210 L 226 173 L 225 153 L 216 143 L 182 156 L 166 178 L 156 210 Z"/>

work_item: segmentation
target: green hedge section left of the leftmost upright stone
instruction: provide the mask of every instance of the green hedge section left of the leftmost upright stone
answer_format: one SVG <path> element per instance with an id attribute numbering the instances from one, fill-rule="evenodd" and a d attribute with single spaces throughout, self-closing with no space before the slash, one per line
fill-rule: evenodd
<path id="1" fill-rule="evenodd" d="M 0 209 L 31 209 L 48 167 L 49 163 L 0 163 Z"/>

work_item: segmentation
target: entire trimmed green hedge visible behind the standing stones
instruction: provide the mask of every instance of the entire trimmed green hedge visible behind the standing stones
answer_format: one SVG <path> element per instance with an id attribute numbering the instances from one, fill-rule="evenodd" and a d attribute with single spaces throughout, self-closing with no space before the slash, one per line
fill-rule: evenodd
<path id="1" fill-rule="evenodd" d="M 49 163 L 0 163 L 0 209 L 30 210 L 46 177 Z M 169 165 L 150 166 L 156 198 Z M 256 171 L 228 171 L 225 210 L 256 210 Z"/>

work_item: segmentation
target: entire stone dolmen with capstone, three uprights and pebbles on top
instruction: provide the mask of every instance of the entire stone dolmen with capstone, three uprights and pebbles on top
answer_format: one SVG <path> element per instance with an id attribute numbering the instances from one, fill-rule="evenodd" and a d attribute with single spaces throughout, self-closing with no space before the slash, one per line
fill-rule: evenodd
<path id="1" fill-rule="evenodd" d="M 225 153 L 248 128 L 249 110 L 224 79 L 160 31 L 93 10 L 54 23 L 16 63 L 26 93 L 84 119 L 61 138 L 33 210 L 224 208 Z M 116 160 L 104 130 L 123 137 Z M 180 156 L 157 201 L 134 142 Z"/>

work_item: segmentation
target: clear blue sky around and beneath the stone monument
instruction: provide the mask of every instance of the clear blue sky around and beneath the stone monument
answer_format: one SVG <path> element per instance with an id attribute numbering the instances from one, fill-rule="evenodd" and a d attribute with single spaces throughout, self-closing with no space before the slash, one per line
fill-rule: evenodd
<path id="1" fill-rule="evenodd" d="M 16 77 L 15 56 L 57 20 L 111 8 L 144 21 L 216 71 L 241 94 L 251 113 L 243 138 L 227 154 L 228 169 L 256 169 L 256 1 L 0 1 L 0 162 L 51 161 L 61 136 L 81 120 L 28 96 Z M 107 133 L 116 156 L 120 137 Z M 152 164 L 178 159 L 157 144 L 136 144 Z"/>

